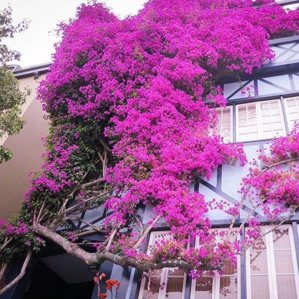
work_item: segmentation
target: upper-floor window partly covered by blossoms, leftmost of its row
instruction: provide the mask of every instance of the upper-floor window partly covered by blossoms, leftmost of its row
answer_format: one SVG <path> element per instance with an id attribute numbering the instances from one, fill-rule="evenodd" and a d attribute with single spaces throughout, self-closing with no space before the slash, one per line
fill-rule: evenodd
<path id="1" fill-rule="evenodd" d="M 233 128 L 233 116 L 232 107 L 217 108 L 216 114 L 218 116 L 218 122 L 215 129 L 211 130 L 211 134 L 220 135 L 223 137 L 224 143 L 232 142 L 232 128 Z"/>

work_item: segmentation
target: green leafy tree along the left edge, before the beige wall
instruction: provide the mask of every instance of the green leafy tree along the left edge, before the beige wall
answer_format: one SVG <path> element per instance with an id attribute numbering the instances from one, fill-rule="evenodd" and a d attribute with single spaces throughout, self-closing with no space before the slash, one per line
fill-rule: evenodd
<path id="1" fill-rule="evenodd" d="M 2 43 L 4 38 L 12 38 L 15 33 L 21 32 L 28 26 L 26 19 L 16 26 L 12 24 L 11 7 L 0 11 L 0 139 L 5 135 L 18 134 L 24 125 L 20 118 L 20 106 L 25 103 L 29 89 L 19 90 L 18 80 L 14 77 L 7 63 L 19 60 L 20 53 L 10 50 Z M 0 146 L 0 163 L 11 158 L 12 152 Z"/>

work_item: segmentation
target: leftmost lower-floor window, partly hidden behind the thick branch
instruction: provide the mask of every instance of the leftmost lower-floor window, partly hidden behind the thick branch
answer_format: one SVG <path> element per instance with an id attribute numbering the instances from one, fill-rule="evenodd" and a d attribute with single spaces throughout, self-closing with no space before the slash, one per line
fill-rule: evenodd
<path id="1" fill-rule="evenodd" d="M 169 235 L 168 231 L 152 232 L 149 238 L 149 245 L 153 245 L 156 241 L 160 241 L 162 239 L 169 239 L 170 237 L 171 235 Z M 153 270 L 150 280 L 150 290 L 148 290 L 148 278 L 143 279 L 141 282 L 141 291 L 139 293 L 138 299 L 184 298 L 186 274 L 183 270 L 177 268 Z M 163 283 L 164 285 L 162 285 Z M 160 288 L 161 285 L 163 288 Z"/>

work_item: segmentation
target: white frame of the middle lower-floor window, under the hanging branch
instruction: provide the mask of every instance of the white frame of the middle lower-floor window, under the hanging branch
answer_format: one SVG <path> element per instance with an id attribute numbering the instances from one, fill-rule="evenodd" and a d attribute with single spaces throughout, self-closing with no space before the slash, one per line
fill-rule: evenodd
<path id="1" fill-rule="evenodd" d="M 217 230 L 217 229 L 215 229 Z M 228 229 L 221 228 L 221 230 L 228 231 Z M 237 230 L 236 230 L 237 231 Z M 238 235 L 239 240 L 240 235 Z M 198 237 L 195 238 L 195 248 L 198 248 Z M 229 275 L 228 275 L 229 276 Z M 211 299 L 219 299 L 220 298 L 220 276 L 218 273 L 212 277 L 212 297 Z M 237 256 L 237 284 L 238 284 L 238 294 L 237 298 L 241 299 L 241 263 L 240 263 L 240 255 Z M 190 299 L 195 299 L 195 289 L 196 289 L 196 279 L 192 279 L 191 282 L 191 295 Z"/>

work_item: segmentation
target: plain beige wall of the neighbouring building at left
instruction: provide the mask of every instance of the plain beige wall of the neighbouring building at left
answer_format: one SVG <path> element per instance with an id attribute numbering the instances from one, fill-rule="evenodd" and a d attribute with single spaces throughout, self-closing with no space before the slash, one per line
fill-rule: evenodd
<path id="1" fill-rule="evenodd" d="M 44 77 L 41 75 L 38 81 Z M 21 90 L 29 86 L 32 92 L 22 107 L 22 119 L 26 124 L 20 134 L 0 141 L 0 144 L 2 142 L 4 147 L 13 152 L 11 160 L 0 164 L 0 219 L 11 218 L 12 214 L 18 212 L 22 196 L 30 186 L 27 173 L 40 170 L 43 162 L 40 156 L 45 150 L 41 137 L 48 134 L 44 112 L 40 102 L 35 99 L 38 82 L 33 77 L 21 78 L 19 81 Z"/>

